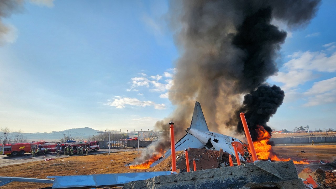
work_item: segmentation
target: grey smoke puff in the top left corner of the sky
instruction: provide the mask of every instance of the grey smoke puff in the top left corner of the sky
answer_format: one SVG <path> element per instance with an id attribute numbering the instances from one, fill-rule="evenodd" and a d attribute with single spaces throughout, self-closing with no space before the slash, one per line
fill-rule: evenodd
<path id="1" fill-rule="evenodd" d="M 23 10 L 23 0 L 0 0 L 0 45 L 6 42 L 13 42 L 16 39 L 16 34 L 13 27 L 3 23 L 3 18 L 9 17 L 13 13 L 18 13 Z"/>

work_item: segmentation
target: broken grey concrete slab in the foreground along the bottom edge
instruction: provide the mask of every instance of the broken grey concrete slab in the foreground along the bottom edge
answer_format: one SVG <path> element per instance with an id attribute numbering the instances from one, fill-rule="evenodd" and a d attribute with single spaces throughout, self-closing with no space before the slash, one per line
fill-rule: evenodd
<path id="1" fill-rule="evenodd" d="M 304 189 L 293 161 L 258 161 L 240 166 L 158 176 L 125 184 L 124 189 Z"/>

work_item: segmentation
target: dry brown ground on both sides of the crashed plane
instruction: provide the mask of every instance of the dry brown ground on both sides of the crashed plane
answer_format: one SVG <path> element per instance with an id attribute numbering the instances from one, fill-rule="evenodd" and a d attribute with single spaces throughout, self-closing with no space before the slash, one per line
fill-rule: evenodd
<path id="1" fill-rule="evenodd" d="M 316 148 L 315 148 L 316 147 Z M 309 160 L 333 161 L 336 159 L 336 145 L 320 146 L 277 146 L 274 150 L 279 156 L 290 156 L 307 158 Z M 301 153 L 305 151 L 306 153 Z M 140 151 L 141 152 L 141 151 Z M 182 154 L 180 154 L 182 155 Z M 72 156 L 68 158 L 57 158 L 50 161 L 35 161 L 23 164 L 3 166 L 0 168 L 0 176 L 27 177 L 45 179 L 46 176 L 65 176 L 65 175 L 90 175 L 90 174 L 109 174 L 109 173 L 132 173 L 144 172 L 141 169 L 129 169 L 128 164 L 134 158 L 139 157 L 136 151 L 119 152 L 107 154 L 97 154 L 88 156 Z M 55 157 L 53 157 L 55 158 Z M 164 160 L 169 161 L 169 159 Z M 163 163 L 163 162 L 162 162 Z M 192 165 L 192 163 L 191 163 Z M 167 167 L 170 168 L 171 165 Z M 155 166 L 147 171 L 159 171 Z M 336 169 L 336 168 L 335 168 Z M 335 177 L 335 173 L 328 173 Z M 336 178 L 336 177 L 335 177 Z M 13 182 L 3 186 L 4 189 L 11 188 L 43 188 L 50 184 Z"/>

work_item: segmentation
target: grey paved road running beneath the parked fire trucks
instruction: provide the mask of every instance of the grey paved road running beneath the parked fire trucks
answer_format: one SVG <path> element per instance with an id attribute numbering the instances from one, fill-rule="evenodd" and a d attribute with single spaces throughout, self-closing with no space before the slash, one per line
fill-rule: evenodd
<path id="1" fill-rule="evenodd" d="M 140 148 L 139 150 L 144 150 L 145 148 Z M 110 149 L 110 153 L 117 153 L 117 152 L 124 152 L 124 151 L 135 151 L 137 152 L 137 148 L 135 149 Z M 84 152 L 85 153 L 85 152 Z M 96 152 L 89 152 L 89 155 L 94 155 L 94 154 L 103 154 L 103 153 L 109 153 L 109 149 L 100 149 Z M 76 155 L 74 155 L 76 156 Z M 21 163 L 28 163 L 32 161 L 41 161 L 45 160 L 48 158 L 66 158 L 66 157 L 71 157 L 71 155 L 61 155 L 60 157 L 56 157 L 56 153 L 51 153 L 48 155 L 39 155 L 37 157 L 32 157 L 30 154 L 25 154 L 23 156 L 14 156 L 14 157 L 9 157 L 6 155 L 0 155 L 0 167 L 2 166 L 7 166 L 7 165 L 15 165 L 15 164 L 21 164 Z"/>

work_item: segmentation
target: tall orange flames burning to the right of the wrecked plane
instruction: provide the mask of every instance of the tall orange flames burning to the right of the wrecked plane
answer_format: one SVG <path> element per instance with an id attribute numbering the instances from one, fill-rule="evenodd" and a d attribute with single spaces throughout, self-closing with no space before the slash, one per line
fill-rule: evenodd
<path id="1" fill-rule="evenodd" d="M 271 138 L 268 131 L 265 130 L 263 126 L 258 125 L 257 128 L 258 137 L 257 141 L 253 142 L 255 152 L 257 153 L 258 159 L 271 159 L 275 161 L 289 161 L 290 158 L 279 158 L 272 150 L 272 146 L 269 145 L 269 139 Z M 309 164 L 305 161 L 295 161 L 295 164 Z"/>

